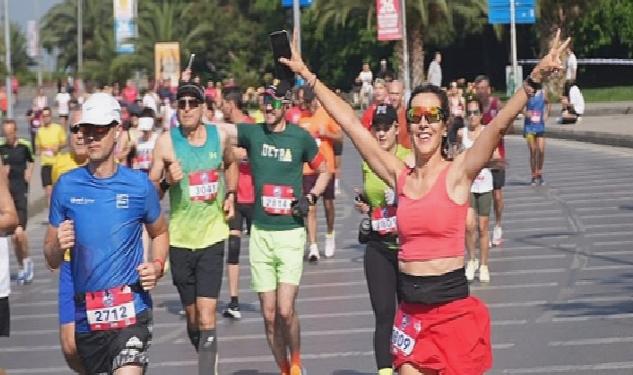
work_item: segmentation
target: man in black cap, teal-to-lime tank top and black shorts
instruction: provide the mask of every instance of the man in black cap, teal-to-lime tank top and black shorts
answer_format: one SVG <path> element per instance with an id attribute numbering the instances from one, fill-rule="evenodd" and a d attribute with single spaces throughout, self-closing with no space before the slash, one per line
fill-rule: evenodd
<path id="1" fill-rule="evenodd" d="M 216 309 L 238 169 L 226 133 L 202 122 L 204 92 L 190 75 L 183 73 L 176 94 L 180 127 L 156 141 L 150 178 L 169 190 L 172 278 L 199 373 L 217 375 Z"/>

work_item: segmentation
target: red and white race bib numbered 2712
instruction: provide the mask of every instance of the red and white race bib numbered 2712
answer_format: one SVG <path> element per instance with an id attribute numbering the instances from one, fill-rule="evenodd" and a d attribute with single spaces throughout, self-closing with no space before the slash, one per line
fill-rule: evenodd
<path id="1" fill-rule="evenodd" d="M 120 329 L 136 323 L 134 293 L 129 286 L 86 293 L 86 315 L 91 331 Z"/>

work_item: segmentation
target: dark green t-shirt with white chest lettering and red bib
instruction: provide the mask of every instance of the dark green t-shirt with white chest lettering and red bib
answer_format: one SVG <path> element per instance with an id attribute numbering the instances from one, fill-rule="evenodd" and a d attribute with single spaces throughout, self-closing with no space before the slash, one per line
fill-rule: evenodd
<path id="1" fill-rule="evenodd" d="M 303 163 L 316 157 L 318 147 L 304 129 L 287 124 L 272 132 L 266 124 L 238 124 L 237 143 L 247 150 L 255 185 L 253 224 L 264 230 L 303 227 L 291 213 L 292 201 L 303 195 Z"/>

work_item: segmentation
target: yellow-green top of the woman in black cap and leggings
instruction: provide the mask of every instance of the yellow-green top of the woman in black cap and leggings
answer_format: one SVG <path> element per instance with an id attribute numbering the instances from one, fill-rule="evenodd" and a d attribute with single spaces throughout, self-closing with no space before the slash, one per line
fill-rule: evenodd
<path id="1" fill-rule="evenodd" d="M 411 150 L 396 146 L 396 156 L 404 160 Z M 363 193 L 370 206 L 370 219 L 375 233 L 383 234 L 381 238 L 392 249 L 398 248 L 395 235 L 396 193 L 363 162 Z M 387 235 L 389 233 L 390 235 Z"/>

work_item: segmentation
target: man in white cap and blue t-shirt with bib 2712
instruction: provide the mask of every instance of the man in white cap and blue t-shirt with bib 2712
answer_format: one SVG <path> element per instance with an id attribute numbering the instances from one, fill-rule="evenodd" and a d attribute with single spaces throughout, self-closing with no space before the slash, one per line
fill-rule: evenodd
<path id="1" fill-rule="evenodd" d="M 146 174 L 114 160 L 120 107 L 108 94 L 84 103 L 79 131 L 90 162 L 53 190 L 44 252 L 56 269 L 71 251 L 77 350 L 88 373 L 142 374 L 151 342 L 152 289 L 167 257 L 167 223 Z M 154 260 L 143 261 L 142 229 Z"/>

